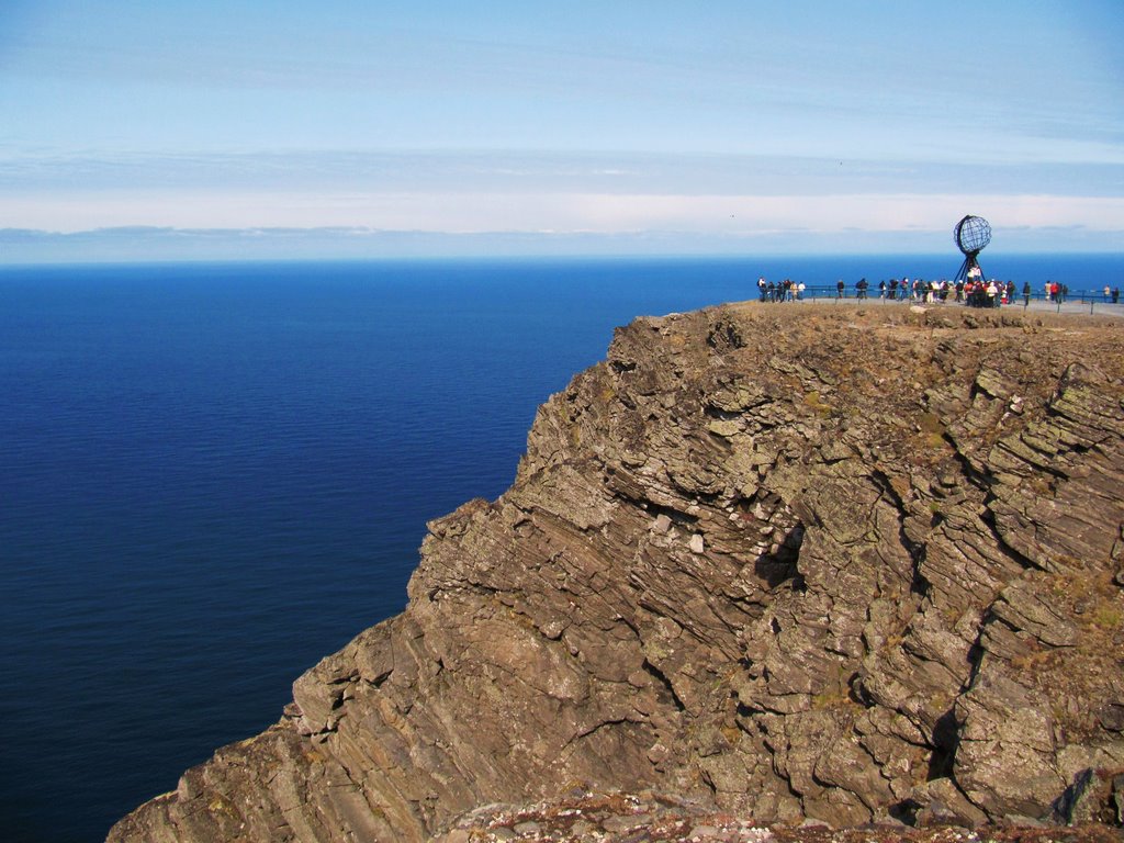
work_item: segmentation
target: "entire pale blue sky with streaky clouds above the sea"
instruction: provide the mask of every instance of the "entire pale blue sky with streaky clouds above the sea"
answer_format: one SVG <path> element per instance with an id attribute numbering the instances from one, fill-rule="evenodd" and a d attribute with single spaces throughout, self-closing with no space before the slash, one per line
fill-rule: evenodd
<path id="1" fill-rule="evenodd" d="M 0 0 L 0 264 L 932 254 L 966 214 L 1124 252 L 1124 1 Z"/>

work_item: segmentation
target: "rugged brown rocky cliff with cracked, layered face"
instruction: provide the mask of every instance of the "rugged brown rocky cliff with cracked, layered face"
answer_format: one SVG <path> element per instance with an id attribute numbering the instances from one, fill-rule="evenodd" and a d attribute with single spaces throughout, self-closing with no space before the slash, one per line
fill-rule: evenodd
<path id="1" fill-rule="evenodd" d="M 1124 326 L 727 306 L 619 329 L 406 611 L 111 841 L 423 841 L 673 792 L 1118 823 Z"/>

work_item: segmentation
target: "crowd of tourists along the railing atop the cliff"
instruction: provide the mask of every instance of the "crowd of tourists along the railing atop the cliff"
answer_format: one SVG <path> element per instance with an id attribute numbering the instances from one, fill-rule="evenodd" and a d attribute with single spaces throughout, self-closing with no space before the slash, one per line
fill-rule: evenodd
<path id="1" fill-rule="evenodd" d="M 985 280 L 982 277 L 969 273 L 966 279 L 955 281 L 924 281 L 919 278 L 913 280 L 903 278 L 900 281 L 891 278 L 889 281 L 878 282 L 878 298 L 890 301 L 913 301 L 915 303 L 944 303 L 954 301 L 968 307 L 999 307 L 1000 305 L 1013 305 L 1031 302 L 1033 290 L 1027 281 L 1023 284 L 1022 291 L 1015 287 L 1014 281 L 997 281 L 995 279 Z M 827 291 L 825 291 L 827 292 Z M 804 282 L 785 279 L 779 283 L 767 281 L 764 278 L 758 279 L 758 293 L 761 301 L 800 301 L 807 293 Z M 1019 296 L 1021 293 L 1021 296 Z M 830 292 L 827 292 L 830 296 Z M 854 298 L 865 299 L 871 294 L 870 283 L 862 278 L 854 283 Z M 1105 301 L 1112 300 L 1115 305 L 1120 301 L 1120 288 L 1108 289 L 1105 285 Z M 1045 301 L 1061 303 L 1069 296 L 1069 287 L 1057 281 L 1046 281 L 1043 287 L 1043 298 Z M 849 298 L 846 284 L 840 279 L 835 284 L 835 298 Z M 1019 298 L 1022 301 L 1019 302 Z"/>

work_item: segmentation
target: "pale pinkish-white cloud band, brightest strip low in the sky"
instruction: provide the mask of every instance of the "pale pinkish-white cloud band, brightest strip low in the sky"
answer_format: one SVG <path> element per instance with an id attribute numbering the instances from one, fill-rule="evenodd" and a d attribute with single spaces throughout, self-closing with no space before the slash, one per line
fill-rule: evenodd
<path id="1" fill-rule="evenodd" d="M 597 181 L 597 176 L 590 176 Z M 138 224 L 175 228 L 325 226 L 451 234 L 674 229 L 752 236 L 776 230 L 943 230 L 966 212 L 992 225 L 1124 230 L 1124 197 L 984 191 L 892 193 L 677 193 L 525 185 L 509 190 L 54 191 L 0 196 L 0 226 L 84 230 Z"/>

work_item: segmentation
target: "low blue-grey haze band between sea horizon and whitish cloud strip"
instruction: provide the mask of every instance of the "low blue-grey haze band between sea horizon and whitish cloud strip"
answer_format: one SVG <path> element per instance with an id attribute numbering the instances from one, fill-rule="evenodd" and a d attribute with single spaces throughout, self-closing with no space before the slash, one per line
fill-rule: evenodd
<path id="1" fill-rule="evenodd" d="M 1097 232 L 1001 230 L 1007 254 L 1121 254 Z M 998 235 L 997 235 L 998 237 Z M 1048 244 L 1044 246 L 1043 244 Z M 959 263 L 948 232 L 735 236 L 697 232 L 387 230 L 369 227 L 172 228 L 120 226 L 80 232 L 0 228 L 0 266 L 144 261 L 372 260 L 413 257 L 731 257 L 750 255 L 918 254 L 943 252 Z M 999 254 L 998 243 L 992 253 Z M 989 253 L 985 253 L 985 268 Z M 949 271 L 953 273 L 955 268 Z"/>

